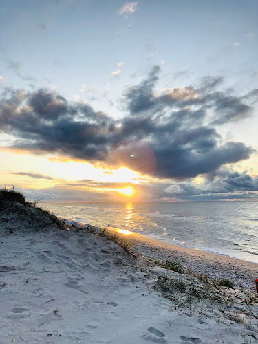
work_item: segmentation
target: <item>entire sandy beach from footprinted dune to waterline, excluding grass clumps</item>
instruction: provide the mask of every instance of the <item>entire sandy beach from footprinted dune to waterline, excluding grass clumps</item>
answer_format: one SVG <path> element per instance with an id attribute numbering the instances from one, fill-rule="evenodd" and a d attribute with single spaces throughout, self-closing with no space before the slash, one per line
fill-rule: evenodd
<path id="1" fill-rule="evenodd" d="M 248 275 L 255 275 L 256 264 L 120 234 L 125 248 L 134 241 L 130 253 L 91 233 L 91 226 L 67 221 L 61 230 L 34 208 L 15 209 L 0 217 L 1 343 L 257 342 L 258 307 L 248 303 L 255 298 Z M 183 266 L 200 274 L 217 269 L 218 277 L 219 267 L 226 273 L 230 265 L 235 289 L 204 295 L 203 281 L 147 256 L 181 257 Z M 245 268 L 248 275 L 240 277 Z M 238 279 L 246 291 L 237 287 Z"/>

